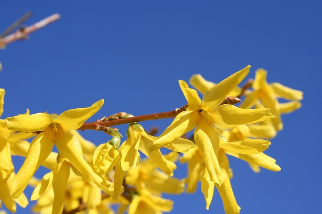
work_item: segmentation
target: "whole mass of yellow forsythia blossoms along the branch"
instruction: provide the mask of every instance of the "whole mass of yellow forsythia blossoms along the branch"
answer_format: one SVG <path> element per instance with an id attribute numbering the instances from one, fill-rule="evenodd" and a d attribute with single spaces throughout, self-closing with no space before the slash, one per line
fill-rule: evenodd
<path id="1" fill-rule="evenodd" d="M 255 172 L 260 167 L 281 170 L 263 151 L 283 127 L 281 114 L 298 109 L 302 99 L 301 91 L 268 84 L 263 69 L 239 88 L 249 71 L 247 66 L 218 84 L 199 74 L 192 76 L 190 84 L 203 94 L 202 99 L 179 80 L 187 105 L 173 111 L 173 122 L 158 137 L 138 123 L 150 118 L 144 115 L 119 113 L 86 123 L 104 100 L 59 115 L 28 110 L 0 120 L 0 200 L 15 212 L 16 203 L 27 206 L 24 190 L 30 185 L 34 187 L 30 200 L 37 200 L 35 212 L 114 213 L 112 205 L 118 204 L 118 213 L 162 213 L 173 207 L 163 193 L 195 192 L 201 181 L 207 209 L 217 189 L 225 212 L 239 213 L 227 155 L 247 161 Z M 1 89 L 0 115 L 4 95 Z M 280 103 L 281 98 L 288 102 Z M 237 107 L 240 99 L 243 102 Z M 124 123 L 128 123 L 126 137 L 111 128 Z M 93 127 L 112 138 L 97 146 L 76 131 Z M 25 157 L 17 174 L 12 155 Z M 185 179 L 174 177 L 178 160 L 187 163 Z M 41 165 L 50 171 L 37 179 L 34 174 Z"/>

